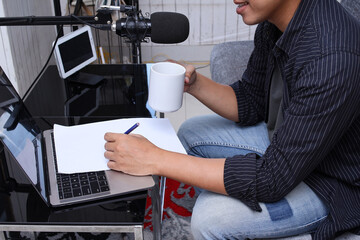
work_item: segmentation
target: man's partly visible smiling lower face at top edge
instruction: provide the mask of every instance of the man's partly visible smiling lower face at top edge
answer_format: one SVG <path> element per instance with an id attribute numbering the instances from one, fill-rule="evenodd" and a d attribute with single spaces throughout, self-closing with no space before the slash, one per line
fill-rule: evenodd
<path id="1" fill-rule="evenodd" d="M 289 5 L 297 0 L 233 0 L 237 5 L 236 13 L 243 17 L 247 25 L 254 25 L 268 20 L 275 25 L 282 23 L 288 16 Z M 279 27 L 279 26 L 278 26 Z"/>

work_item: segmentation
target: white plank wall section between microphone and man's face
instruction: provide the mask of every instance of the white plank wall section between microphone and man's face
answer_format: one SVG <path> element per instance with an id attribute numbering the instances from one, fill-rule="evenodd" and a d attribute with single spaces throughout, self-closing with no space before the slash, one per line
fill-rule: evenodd
<path id="1" fill-rule="evenodd" d="M 248 40 L 255 27 L 245 25 L 229 0 L 140 0 L 143 13 L 182 13 L 189 18 L 190 35 L 181 45 L 207 45 Z M 174 26 L 176 27 L 176 26 Z"/>

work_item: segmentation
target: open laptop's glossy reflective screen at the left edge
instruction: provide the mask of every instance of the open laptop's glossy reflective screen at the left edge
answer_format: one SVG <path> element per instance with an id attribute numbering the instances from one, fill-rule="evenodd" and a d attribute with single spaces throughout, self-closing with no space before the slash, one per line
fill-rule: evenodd
<path id="1" fill-rule="evenodd" d="M 0 140 L 46 199 L 40 133 L 0 67 Z"/>

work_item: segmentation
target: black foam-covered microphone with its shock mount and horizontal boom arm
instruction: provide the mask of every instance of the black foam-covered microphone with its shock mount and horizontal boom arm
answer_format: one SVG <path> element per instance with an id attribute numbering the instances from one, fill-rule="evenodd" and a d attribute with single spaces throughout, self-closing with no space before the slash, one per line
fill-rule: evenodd
<path id="1" fill-rule="evenodd" d="M 102 7 L 97 10 L 96 16 L 3 17 L 0 18 L 0 26 L 86 24 L 96 29 L 113 31 L 131 42 L 133 63 L 141 63 L 141 42 L 146 42 L 149 37 L 154 43 L 174 44 L 185 41 L 189 36 L 189 20 L 183 14 L 158 12 L 145 18 L 137 6 L 113 8 Z M 127 17 L 113 21 L 113 11 L 123 12 Z"/>

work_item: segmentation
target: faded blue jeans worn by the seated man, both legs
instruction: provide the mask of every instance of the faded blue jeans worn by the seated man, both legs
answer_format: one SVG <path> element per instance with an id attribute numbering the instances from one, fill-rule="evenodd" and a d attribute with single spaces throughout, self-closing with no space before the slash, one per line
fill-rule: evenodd
<path id="1" fill-rule="evenodd" d="M 240 127 L 217 115 L 187 120 L 178 136 L 189 155 L 204 158 L 262 155 L 270 144 L 265 123 Z M 313 232 L 328 214 L 327 206 L 303 182 L 282 200 L 260 206 L 262 211 L 255 212 L 238 199 L 202 190 L 191 219 L 194 239 L 295 236 Z"/>

